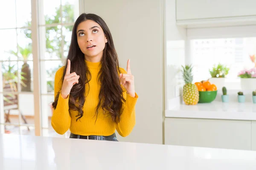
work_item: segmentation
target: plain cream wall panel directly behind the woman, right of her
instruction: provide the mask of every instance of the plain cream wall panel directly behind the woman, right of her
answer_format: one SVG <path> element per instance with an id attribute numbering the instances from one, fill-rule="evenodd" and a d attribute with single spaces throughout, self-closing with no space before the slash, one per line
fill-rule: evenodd
<path id="1" fill-rule="evenodd" d="M 119 63 L 131 59 L 135 77 L 136 125 L 119 141 L 163 143 L 163 0 L 85 0 L 85 12 L 105 20 Z"/>

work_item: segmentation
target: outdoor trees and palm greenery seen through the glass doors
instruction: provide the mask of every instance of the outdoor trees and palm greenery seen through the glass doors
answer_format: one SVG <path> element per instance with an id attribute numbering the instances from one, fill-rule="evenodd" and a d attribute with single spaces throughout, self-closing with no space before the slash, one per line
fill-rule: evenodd
<path id="1" fill-rule="evenodd" d="M 74 22 L 74 11 L 73 5 L 65 4 L 62 6 L 62 21 L 65 23 L 73 23 Z M 60 8 L 56 8 L 55 15 L 45 15 L 45 24 L 52 23 L 60 23 L 61 20 L 61 10 Z M 22 29 L 22 34 L 24 34 L 27 38 L 31 39 L 31 30 L 29 27 L 31 26 L 31 22 L 27 22 L 26 29 Z M 53 55 L 57 56 L 62 62 L 64 61 L 63 56 L 61 56 L 61 40 L 64 39 L 64 50 L 68 51 L 70 44 L 67 40 L 65 40 L 65 34 L 61 36 L 61 26 L 54 27 L 45 27 L 46 29 L 46 52 L 49 53 L 52 58 Z M 73 29 L 73 26 L 63 26 L 63 31 L 70 32 Z M 32 41 L 31 41 L 32 42 Z M 30 55 L 32 55 L 32 43 L 28 43 L 25 47 L 17 46 L 16 51 L 9 51 L 9 54 L 17 56 L 18 59 L 23 59 L 23 65 L 20 71 L 20 75 L 17 74 L 17 67 L 12 65 L 11 62 L 8 62 L 8 65 L 3 64 L 3 84 L 6 82 L 10 83 L 13 91 L 17 91 L 17 82 L 18 77 L 20 77 L 21 91 L 31 91 L 31 69 L 29 68 L 29 64 L 27 60 Z M 55 72 L 62 66 L 62 64 L 56 65 L 55 68 L 47 70 L 47 77 L 54 77 Z M 14 83 L 15 82 L 15 83 Z M 52 79 L 47 79 L 47 89 L 48 92 L 52 92 L 54 90 L 54 81 Z"/>

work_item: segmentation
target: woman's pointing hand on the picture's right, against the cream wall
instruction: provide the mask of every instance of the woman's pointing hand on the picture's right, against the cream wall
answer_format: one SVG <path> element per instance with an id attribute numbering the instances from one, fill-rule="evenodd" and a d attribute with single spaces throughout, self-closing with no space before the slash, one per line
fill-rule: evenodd
<path id="1" fill-rule="evenodd" d="M 132 97 L 135 97 L 135 89 L 134 89 L 134 75 L 131 74 L 130 68 L 130 59 L 127 61 L 127 74 L 119 75 L 120 83 L 126 89 L 127 94 Z"/>

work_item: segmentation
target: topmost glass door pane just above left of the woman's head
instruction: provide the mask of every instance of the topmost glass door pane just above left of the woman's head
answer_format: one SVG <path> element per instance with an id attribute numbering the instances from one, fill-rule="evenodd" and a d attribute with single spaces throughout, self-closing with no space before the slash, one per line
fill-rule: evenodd
<path id="1" fill-rule="evenodd" d="M 61 0 L 62 22 L 74 23 L 79 17 L 79 0 Z"/>

